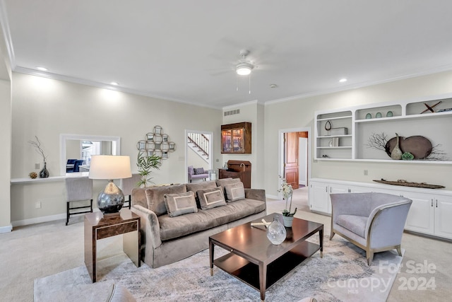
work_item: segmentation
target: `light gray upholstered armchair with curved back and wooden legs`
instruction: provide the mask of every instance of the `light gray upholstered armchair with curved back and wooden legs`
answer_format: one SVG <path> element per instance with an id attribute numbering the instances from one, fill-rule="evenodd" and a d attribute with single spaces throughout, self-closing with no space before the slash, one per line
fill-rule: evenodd
<path id="1" fill-rule="evenodd" d="M 384 193 L 331 194 L 331 236 L 342 236 L 366 251 L 371 265 L 374 252 L 397 249 L 411 206 L 411 199 Z"/>

